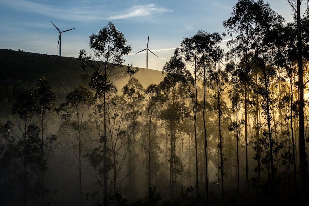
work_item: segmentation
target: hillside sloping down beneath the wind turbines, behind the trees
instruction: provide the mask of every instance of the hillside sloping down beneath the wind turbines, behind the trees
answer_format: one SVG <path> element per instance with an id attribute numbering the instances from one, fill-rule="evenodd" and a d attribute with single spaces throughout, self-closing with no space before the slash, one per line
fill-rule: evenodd
<path id="1" fill-rule="evenodd" d="M 1 116 L 10 113 L 11 106 L 16 96 L 25 87 L 36 86 L 43 76 L 53 87 L 57 97 L 56 104 L 64 101 L 65 95 L 81 83 L 84 70 L 78 58 L 59 57 L 0 49 L 0 112 Z M 139 68 L 134 75 L 146 88 L 150 84 L 158 84 L 163 80 L 162 73 L 158 70 Z M 129 77 L 115 82 L 121 90 L 128 82 Z"/>

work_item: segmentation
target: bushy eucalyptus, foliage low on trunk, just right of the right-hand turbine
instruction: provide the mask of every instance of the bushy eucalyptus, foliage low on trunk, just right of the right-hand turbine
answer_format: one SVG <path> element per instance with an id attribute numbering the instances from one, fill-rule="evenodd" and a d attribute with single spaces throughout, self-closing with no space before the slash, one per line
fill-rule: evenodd
<path id="1" fill-rule="evenodd" d="M 184 120 L 189 116 L 188 106 L 184 102 L 187 98 L 187 76 L 189 71 L 179 56 L 179 48 L 175 49 L 174 56 L 163 67 L 166 73 L 159 88 L 163 94 L 164 106 L 159 112 L 159 119 L 170 141 L 170 197 L 174 196 L 174 183 L 176 182 L 176 138 L 184 130 Z"/>

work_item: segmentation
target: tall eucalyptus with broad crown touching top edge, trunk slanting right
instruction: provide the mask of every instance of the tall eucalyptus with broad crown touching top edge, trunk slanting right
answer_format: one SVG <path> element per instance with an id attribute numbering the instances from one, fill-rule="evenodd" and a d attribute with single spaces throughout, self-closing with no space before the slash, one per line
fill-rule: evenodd
<path id="1" fill-rule="evenodd" d="M 262 83 L 262 86 L 258 86 L 256 89 L 262 96 L 261 101 L 263 115 L 267 121 L 268 132 L 264 132 L 263 134 L 269 141 L 268 155 L 271 167 L 272 192 L 275 192 L 275 167 L 273 163 L 274 145 L 271 129 L 272 111 L 270 108 L 270 104 L 272 103 L 270 79 L 276 74 L 276 72 L 273 67 L 271 56 L 269 55 L 270 47 L 267 44 L 267 37 L 269 35 L 269 31 L 276 25 L 282 24 L 284 19 L 274 12 L 268 3 L 264 3 L 261 0 L 257 2 L 246 0 L 239 1 L 238 3 L 240 2 L 241 4 L 237 4 L 236 7 L 234 7 L 234 10 L 237 11 L 237 6 L 239 6 L 239 9 L 242 8 L 242 13 L 235 12 L 237 15 L 224 22 L 224 24 L 225 27 L 228 28 L 230 35 L 232 35 L 234 31 L 237 31 L 235 33 L 241 40 L 240 43 L 245 43 L 246 47 L 243 49 L 246 52 L 245 57 L 248 56 L 248 50 L 253 51 L 255 65 L 261 73 L 259 80 Z M 239 18 L 239 16 L 241 18 Z M 248 65 L 248 63 L 246 65 Z"/>

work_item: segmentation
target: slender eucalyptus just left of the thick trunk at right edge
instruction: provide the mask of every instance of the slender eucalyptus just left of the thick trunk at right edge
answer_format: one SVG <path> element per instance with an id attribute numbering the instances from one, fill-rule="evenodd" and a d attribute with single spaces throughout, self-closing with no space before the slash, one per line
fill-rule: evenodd
<path id="1" fill-rule="evenodd" d="M 289 1 L 291 2 L 291 1 Z M 297 3 L 294 1 L 295 4 Z M 296 10 L 295 10 L 296 12 Z M 309 49 L 308 49 L 308 22 L 309 18 L 304 17 L 301 19 L 301 31 L 302 31 L 302 57 L 303 57 L 303 63 L 305 64 L 307 60 L 309 59 Z M 298 44 L 297 44 L 297 23 L 291 22 L 287 23 L 285 26 L 277 27 L 272 31 L 272 35 L 270 36 L 270 43 L 277 48 L 280 53 L 277 55 L 277 62 L 278 65 L 280 65 L 282 68 L 285 69 L 286 79 L 289 82 L 289 93 L 282 97 L 281 102 L 282 104 L 289 105 L 288 111 L 289 114 L 286 116 L 286 119 L 290 121 L 290 132 L 289 132 L 289 138 L 291 138 L 291 145 L 292 145 L 292 162 L 293 162 L 293 169 L 294 169 L 294 187 L 295 187 L 295 194 L 296 194 L 296 200 L 297 198 L 297 170 L 296 170 L 296 142 L 294 133 L 298 130 L 298 128 L 294 128 L 293 126 L 293 119 L 297 118 L 299 115 L 299 112 L 297 111 L 299 107 L 297 107 L 297 104 L 299 103 L 299 82 L 298 82 Z M 275 39 L 272 41 L 272 39 Z M 306 66 L 303 66 L 306 68 Z M 307 74 L 303 75 L 303 81 L 304 81 L 304 87 L 308 83 L 309 79 Z"/>

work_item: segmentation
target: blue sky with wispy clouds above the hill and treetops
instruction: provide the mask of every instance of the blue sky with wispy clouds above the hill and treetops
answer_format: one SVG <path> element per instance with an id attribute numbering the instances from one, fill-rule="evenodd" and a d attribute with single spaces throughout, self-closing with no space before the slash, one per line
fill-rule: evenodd
<path id="1" fill-rule="evenodd" d="M 146 48 L 149 69 L 162 70 L 180 46 L 184 37 L 199 30 L 222 34 L 222 22 L 231 16 L 237 0 L 0 0 L 0 49 L 12 49 L 59 55 L 57 42 L 61 31 L 61 53 L 77 57 L 83 48 L 87 53 L 89 36 L 112 21 L 127 44 L 132 46 L 126 64 L 146 68 L 146 53 L 134 53 Z M 271 8 L 286 22 L 293 21 L 286 0 L 269 0 Z M 226 39 L 226 38 L 224 38 Z M 225 47 L 225 41 L 221 43 Z M 226 49 L 225 49 L 226 50 Z"/>

